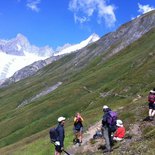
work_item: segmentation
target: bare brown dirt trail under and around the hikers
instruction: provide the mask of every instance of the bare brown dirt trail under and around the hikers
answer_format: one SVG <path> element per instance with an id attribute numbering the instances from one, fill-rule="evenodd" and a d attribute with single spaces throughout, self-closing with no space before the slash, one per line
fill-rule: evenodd
<path id="1" fill-rule="evenodd" d="M 93 126 L 91 126 L 86 133 L 84 133 L 83 135 L 83 142 L 82 145 L 79 146 L 78 144 L 73 145 L 72 147 L 70 147 L 69 149 L 67 149 L 67 151 L 71 154 L 71 155 L 82 155 L 82 154 L 89 154 L 89 155 L 95 155 L 97 154 L 103 154 L 102 150 L 98 150 L 98 147 L 101 145 L 104 145 L 104 139 L 100 138 L 100 139 L 95 139 L 95 141 L 91 142 L 91 139 L 93 138 L 93 135 L 95 134 L 95 132 L 97 131 L 97 128 L 100 128 L 101 126 L 101 121 L 95 123 Z M 144 126 L 155 126 L 155 121 L 152 122 L 137 122 L 135 124 L 130 124 L 130 128 L 129 131 L 127 131 L 128 135 L 132 135 L 132 137 L 126 137 L 122 142 L 120 142 L 120 144 L 117 146 L 115 146 L 113 149 L 122 152 L 122 153 L 126 153 L 130 150 L 130 144 L 133 142 L 138 142 L 141 141 L 143 139 L 142 137 L 142 131 L 141 129 Z M 115 152 L 115 151 L 113 151 Z M 113 154 L 113 153 L 111 153 Z"/>

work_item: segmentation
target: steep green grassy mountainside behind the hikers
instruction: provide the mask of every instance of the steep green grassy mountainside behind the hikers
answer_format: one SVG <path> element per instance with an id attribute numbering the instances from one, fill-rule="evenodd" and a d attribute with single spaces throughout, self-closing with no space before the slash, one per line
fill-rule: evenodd
<path id="1" fill-rule="evenodd" d="M 137 94 L 147 96 L 148 90 L 155 85 L 154 40 L 155 29 L 107 62 L 102 62 L 102 56 L 97 57 L 81 72 L 67 74 L 61 66 L 74 57 L 72 54 L 47 66 L 32 78 L 20 81 L 8 89 L 1 89 L 0 147 L 20 141 L 17 146 L 4 148 L 12 148 L 16 154 L 20 154 L 18 146 L 37 139 L 32 144 L 25 145 L 22 151 L 25 154 L 49 154 L 48 137 L 40 138 L 38 135 L 47 135 L 46 129 L 56 123 L 58 116 L 64 115 L 72 119 L 76 111 L 81 111 L 87 128 L 101 118 L 101 107 L 104 103 L 113 108 L 131 105 L 134 109 L 136 105 L 132 104 L 132 100 Z M 23 100 L 37 94 L 45 85 L 51 86 L 58 81 L 63 81 L 63 85 L 53 93 L 16 109 Z M 100 93 L 109 91 L 109 96 L 101 98 Z M 142 102 L 146 102 L 145 97 Z M 131 117 L 128 120 L 130 122 L 133 113 L 125 111 L 123 115 L 122 112 L 122 118 Z M 136 118 L 134 120 L 136 121 Z M 68 120 L 69 129 L 71 121 Z M 71 141 L 69 129 L 69 139 L 66 140 L 68 144 Z M 35 133 L 38 135 L 34 135 Z M 22 140 L 30 135 L 33 135 L 33 138 Z"/>

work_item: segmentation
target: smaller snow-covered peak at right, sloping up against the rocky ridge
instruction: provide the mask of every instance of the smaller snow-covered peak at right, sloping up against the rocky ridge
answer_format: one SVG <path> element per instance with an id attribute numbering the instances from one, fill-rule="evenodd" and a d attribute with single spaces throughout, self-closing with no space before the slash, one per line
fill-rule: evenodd
<path id="1" fill-rule="evenodd" d="M 66 45 L 64 45 L 63 47 L 58 49 L 59 51 L 57 53 L 54 53 L 54 56 L 75 52 L 75 51 L 87 46 L 88 44 L 91 44 L 91 43 L 97 41 L 98 39 L 100 39 L 100 37 L 97 34 L 93 33 L 89 38 L 80 42 L 79 44 L 74 44 L 74 45 L 66 44 Z"/>

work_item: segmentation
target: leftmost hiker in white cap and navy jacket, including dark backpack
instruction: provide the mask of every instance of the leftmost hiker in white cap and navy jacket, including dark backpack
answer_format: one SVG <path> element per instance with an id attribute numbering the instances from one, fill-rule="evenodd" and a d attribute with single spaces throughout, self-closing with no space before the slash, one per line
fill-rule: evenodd
<path id="1" fill-rule="evenodd" d="M 61 155 L 64 151 L 64 131 L 65 117 L 58 118 L 58 126 L 56 128 L 50 129 L 50 139 L 51 143 L 55 145 L 55 155 Z"/>

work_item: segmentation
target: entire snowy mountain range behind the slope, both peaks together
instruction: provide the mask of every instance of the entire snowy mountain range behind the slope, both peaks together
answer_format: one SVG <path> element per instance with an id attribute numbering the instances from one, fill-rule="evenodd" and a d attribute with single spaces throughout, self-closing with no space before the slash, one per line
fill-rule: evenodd
<path id="1" fill-rule="evenodd" d="M 55 53 L 48 46 L 39 48 L 31 45 L 28 39 L 21 34 L 9 41 L 0 40 L 0 83 L 2 83 L 2 79 L 11 77 L 17 71 L 19 74 L 19 70 L 36 61 L 45 60 L 49 57 L 53 57 L 51 58 L 53 60 L 57 56 L 75 52 L 98 39 L 99 36 L 94 33 L 79 44 L 65 44 L 63 47 L 59 47 L 58 52 Z"/>

